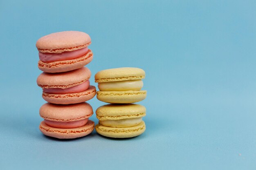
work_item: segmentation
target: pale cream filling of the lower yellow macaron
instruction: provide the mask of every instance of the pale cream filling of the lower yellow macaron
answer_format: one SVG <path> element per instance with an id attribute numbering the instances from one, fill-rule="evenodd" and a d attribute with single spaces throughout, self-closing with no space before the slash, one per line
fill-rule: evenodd
<path id="1" fill-rule="evenodd" d="M 128 128 L 140 124 L 142 117 L 132 119 L 120 119 L 120 120 L 100 120 L 99 124 L 112 128 Z"/>

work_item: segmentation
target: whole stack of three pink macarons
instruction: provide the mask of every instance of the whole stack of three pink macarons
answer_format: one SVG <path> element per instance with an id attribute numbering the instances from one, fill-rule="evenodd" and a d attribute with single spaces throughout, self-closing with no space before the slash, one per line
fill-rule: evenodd
<path id="1" fill-rule="evenodd" d="M 96 95 L 89 82 L 91 71 L 85 67 L 93 57 L 90 44 L 90 36 L 79 31 L 52 33 L 36 42 L 38 68 L 44 71 L 37 84 L 48 102 L 39 111 L 44 119 L 39 129 L 44 135 L 71 139 L 93 131 L 94 122 L 88 120 L 93 110 L 85 103 Z"/>

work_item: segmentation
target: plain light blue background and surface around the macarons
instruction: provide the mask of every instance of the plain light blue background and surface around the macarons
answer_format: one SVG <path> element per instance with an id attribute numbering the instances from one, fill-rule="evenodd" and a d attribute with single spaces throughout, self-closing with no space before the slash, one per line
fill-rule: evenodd
<path id="1" fill-rule="evenodd" d="M 0 169 L 255 170 L 255 9 L 254 0 L 1 0 Z M 106 68 L 146 71 L 144 134 L 41 134 L 35 44 L 67 30 L 92 38 L 92 85 Z"/>

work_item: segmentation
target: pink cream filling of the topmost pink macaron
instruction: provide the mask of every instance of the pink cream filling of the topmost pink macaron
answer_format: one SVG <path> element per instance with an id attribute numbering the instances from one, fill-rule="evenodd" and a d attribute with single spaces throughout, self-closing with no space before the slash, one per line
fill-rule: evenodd
<path id="1" fill-rule="evenodd" d="M 39 52 L 39 59 L 42 62 L 58 62 L 64 60 L 72 60 L 82 55 L 85 55 L 88 52 L 88 48 L 79 49 L 76 51 L 65 51 L 63 53 L 41 53 Z"/>

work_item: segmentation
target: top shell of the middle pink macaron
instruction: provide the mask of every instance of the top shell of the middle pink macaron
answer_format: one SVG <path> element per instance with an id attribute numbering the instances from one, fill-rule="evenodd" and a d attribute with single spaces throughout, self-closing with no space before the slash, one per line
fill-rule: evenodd
<path id="1" fill-rule="evenodd" d="M 91 71 L 82 67 L 64 73 L 41 73 L 36 82 L 41 88 L 69 88 L 90 79 Z"/>

